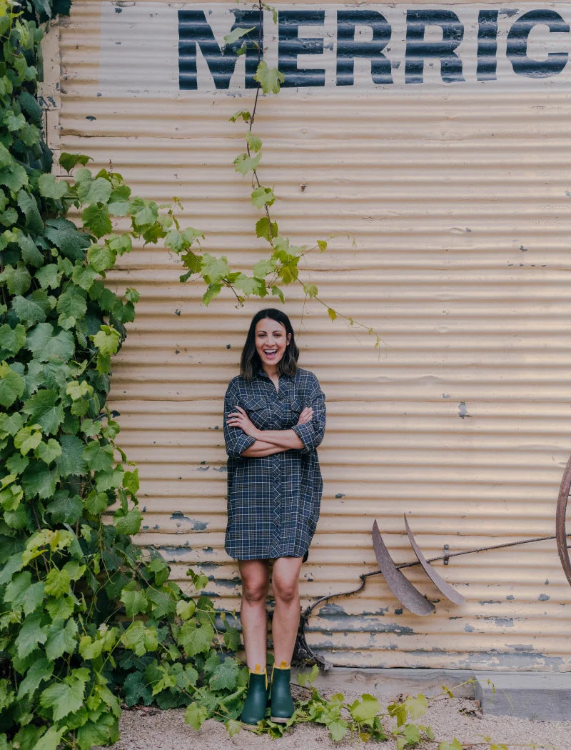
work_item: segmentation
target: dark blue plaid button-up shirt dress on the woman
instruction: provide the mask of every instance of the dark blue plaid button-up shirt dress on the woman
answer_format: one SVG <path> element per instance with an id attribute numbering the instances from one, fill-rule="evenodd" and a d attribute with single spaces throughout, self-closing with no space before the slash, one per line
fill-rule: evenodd
<path id="1" fill-rule="evenodd" d="M 241 453 L 255 440 L 227 424 L 235 407 L 242 407 L 259 430 L 294 430 L 303 449 L 244 458 Z M 312 407 L 312 419 L 297 425 L 304 407 Z M 309 371 L 297 368 L 294 377 L 280 375 L 278 391 L 262 369 L 250 383 L 241 376 L 230 381 L 224 399 L 229 556 L 250 560 L 305 555 L 319 517 L 323 482 L 316 449 L 324 431 L 325 397 Z"/>

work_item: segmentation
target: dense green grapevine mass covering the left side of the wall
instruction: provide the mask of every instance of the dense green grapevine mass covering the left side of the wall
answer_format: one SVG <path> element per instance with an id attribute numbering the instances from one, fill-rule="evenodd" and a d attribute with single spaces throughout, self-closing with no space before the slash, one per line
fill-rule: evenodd
<path id="1" fill-rule="evenodd" d="M 88 157 L 61 154 L 76 174 L 55 178 L 35 61 L 38 22 L 57 7 L 0 0 L 0 748 L 115 742 L 121 700 L 190 706 L 195 725 L 217 716 L 235 733 L 247 681 L 237 628 L 199 595 L 207 577 L 189 571 L 184 595 L 130 539 L 139 477 L 106 398 L 139 295 L 120 299 L 103 279 L 134 242 L 163 240 L 211 297 L 265 283 L 195 254 L 201 232 L 121 175 L 93 174 Z M 129 229 L 113 233 L 112 217 Z"/>

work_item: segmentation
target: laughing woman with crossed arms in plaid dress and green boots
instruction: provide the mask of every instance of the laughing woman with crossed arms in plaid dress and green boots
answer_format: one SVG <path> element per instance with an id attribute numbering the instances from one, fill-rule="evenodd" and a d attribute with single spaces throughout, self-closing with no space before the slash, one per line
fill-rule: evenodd
<path id="1" fill-rule="evenodd" d="M 286 314 L 261 310 L 250 324 L 241 374 L 224 401 L 228 453 L 226 552 L 242 579 L 241 624 L 250 682 L 241 720 L 264 718 L 268 704 L 265 601 L 270 562 L 275 609 L 271 719 L 294 712 L 290 662 L 300 619 L 299 574 L 321 502 L 316 448 L 323 440 L 325 403 L 315 375 L 297 367 L 299 351 Z"/>

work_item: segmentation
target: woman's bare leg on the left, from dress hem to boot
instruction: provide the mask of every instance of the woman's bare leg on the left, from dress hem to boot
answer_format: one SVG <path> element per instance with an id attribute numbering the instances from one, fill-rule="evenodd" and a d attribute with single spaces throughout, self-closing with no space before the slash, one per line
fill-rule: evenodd
<path id="1" fill-rule="evenodd" d="M 240 621 L 246 661 L 252 671 L 256 670 L 256 664 L 259 664 L 263 671 L 266 668 L 266 597 L 270 582 L 270 564 L 268 560 L 238 560 L 238 568 L 242 579 Z"/>

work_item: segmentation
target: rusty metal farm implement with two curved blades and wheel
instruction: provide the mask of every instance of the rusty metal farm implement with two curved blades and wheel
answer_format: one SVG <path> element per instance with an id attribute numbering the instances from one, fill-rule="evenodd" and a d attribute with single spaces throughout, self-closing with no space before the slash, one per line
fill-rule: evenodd
<path id="1" fill-rule="evenodd" d="M 436 571 L 435 568 L 432 567 L 432 565 L 430 564 L 431 562 L 442 560 L 444 561 L 444 565 L 448 565 L 448 562 L 452 557 L 458 557 L 460 555 L 470 555 L 478 552 L 487 552 L 489 550 L 504 549 L 504 547 L 517 547 L 521 544 L 534 544 L 537 541 L 548 541 L 550 539 L 556 539 L 559 558 L 561 559 L 561 565 L 563 566 L 565 575 L 567 576 L 567 580 L 571 585 L 571 559 L 569 554 L 571 545 L 568 544 L 568 537 L 571 536 L 571 532 L 568 533 L 565 526 L 567 502 L 569 500 L 570 493 L 571 458 L 567 462 L 563 478 L 561 479 L 561 485 L 559 487 L 558 503 L 557 509 L 555 511 L 555 535 L 541 536 L 532 539 L 519 539 L 518 541 L 508 541 L 504 544 L 492 544 L 488 547 L 475 547 L 474 549 L 462 550 L 460 552 L 449 552 L 448 544 L 444 544 L 444 554 L 437 557 L 431 557 L 430 559 L 426 559 L 426 557 L 420 550 L 420 547 L 416 539 L 414 538 L 413 533 L 411 532 L 411 527 L 408 523 L 406 514 L 404 514 L 405 529 L 408 535 L 408 541 L 410 541 L 411 547 L 414 550 L 414 554 L 417 557 L 415 562 L 400 562 L 399 564 L 396 564 L 393 561 L 393 558 L 390 556 L 386 544 L 384 544 L 381 532 L 378 528 L 378 523 L 375 520 L 372 525 L 372 544 L 375 550 L 375 557 L 378 562 L 378 570 L 360 574 L 360 584 L 356 588 L 350 589 L 349 591 L 339 591 L 321 596 L 306 608 L 300 618 L 300 627 L 299 631 L 297 632 L 297 640 L 295 642 L 294 649 L 294 661 L 297 664 L 307 664 L 308 662 L 312 662 L 314 664 L 318 664 L 324 671 L 327 671 L 328 669 L 330 669 L 330 667 L 333 666 L 329 661 L 312 651 L 311 646 L 309 646 L 306 641 L 305 627 L 309 620 L 309 616 L 311 615 L 315 607 L 317 607 L 318 604 L 323 604 L 324 601 L 329 601 L 331 598 L 334 598 L 336 596 L 347 596 L 349 594 L 356 594 L 362 591 L 365 587 L 367 578 L 373 575 L 383 575 L 390 590 L 404 607 L 406 607 L 414 614 L 425 616 L 427 614 L 430 614 L 434 610 L 434 604 L 428 601 L 426 596 L 424 596 L 416 588 L 416 586 L 413 586 L 408 578 L 406 578 L 405 575 L 402 574 L 402 568 L 411 568 L 414 565 L 421 565 L 423 570 L 426 572 L 430 580 L 432 580 L 432 583 L 434 583 L 441 594 L 452 601 L 453 604 L 462 604 L 462 602 L 465 601 L 465 597 L 459 591 L 456 591 L 453 586 L 450 586 L 450 583 L 447 583 L 447 581 L 444 580 L 441 574 L 439 574 L 438 571 Z"/>

